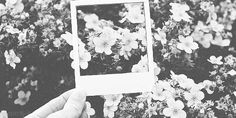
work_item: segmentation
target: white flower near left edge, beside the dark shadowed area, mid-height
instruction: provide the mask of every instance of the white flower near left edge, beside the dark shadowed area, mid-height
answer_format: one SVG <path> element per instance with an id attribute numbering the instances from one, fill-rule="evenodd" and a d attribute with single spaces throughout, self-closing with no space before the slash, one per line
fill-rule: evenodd
<path id="1" fill-rule="evenodd" d="M 10 65 L 13 69 L 16 68 L 16 63 L 20 63 L 20 58 L 16 56 L 13 49 L 4 52 L 6 58 L 6 64 Z"/>

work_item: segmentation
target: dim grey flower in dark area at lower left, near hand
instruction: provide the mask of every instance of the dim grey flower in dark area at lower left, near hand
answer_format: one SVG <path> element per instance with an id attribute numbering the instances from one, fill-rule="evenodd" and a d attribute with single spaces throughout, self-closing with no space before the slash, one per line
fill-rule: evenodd
<path id="1" fill-rule="evenodd" d="M 14 101 L 14 103 L 24 106 L 29 101 L 30 96 L 31 96 L 30 91 L 27 91 L 25 93 L 24 91 L 21 90 L 18 92 L 18 98 Z"/>

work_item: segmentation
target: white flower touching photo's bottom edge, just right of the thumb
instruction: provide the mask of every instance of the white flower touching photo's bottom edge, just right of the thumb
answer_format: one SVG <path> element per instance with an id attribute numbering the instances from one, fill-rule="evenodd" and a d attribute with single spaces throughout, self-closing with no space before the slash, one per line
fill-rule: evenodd
<path id="1" fill-rule="evenodd" d="M 117 109 L 118 109 L 118 106 L 116 106 L 116 105 L 108 106 L 108 105 L 104 104 L 104 109 L 103 109 L 104 117 L 114 118 L 114 116 L 115 116 L 114 112 Z"/>

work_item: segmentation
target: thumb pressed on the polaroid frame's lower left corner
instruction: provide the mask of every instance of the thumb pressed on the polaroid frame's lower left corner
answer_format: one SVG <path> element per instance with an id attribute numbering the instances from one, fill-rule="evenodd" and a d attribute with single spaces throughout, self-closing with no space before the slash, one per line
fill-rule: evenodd
<path id="1" fill-rule="evenodd" d="M 81 90 L 75 90 L 67 100 L 63 111 L 67 113 L 68 118 L 79 118 L 85 106 L 86 93 Z"/>

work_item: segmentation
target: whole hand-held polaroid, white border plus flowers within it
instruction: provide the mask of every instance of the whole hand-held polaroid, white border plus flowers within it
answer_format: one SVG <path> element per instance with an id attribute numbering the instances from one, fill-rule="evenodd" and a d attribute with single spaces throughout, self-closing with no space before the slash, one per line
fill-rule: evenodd
<path id="1" fill-rule="evenodd" d="M 71 1 L 76 87 L 89 96 L 151 91 L 148 0 Z"/>

